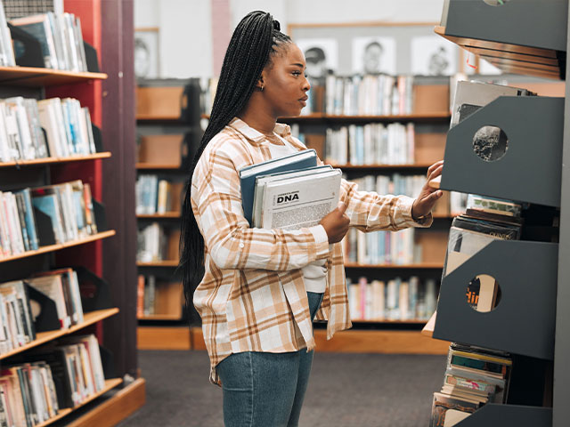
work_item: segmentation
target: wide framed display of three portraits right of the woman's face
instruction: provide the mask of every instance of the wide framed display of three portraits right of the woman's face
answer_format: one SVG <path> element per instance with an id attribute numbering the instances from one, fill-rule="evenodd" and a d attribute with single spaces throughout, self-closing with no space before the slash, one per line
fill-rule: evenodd
<path id="1" fill-rule="evenodd" d="M 288 34 L 304 52 L 307 40 L 335 43 L 338 64 L 330 69 L 338 76 L 364 73 L 450 76 L 464 71 L 460 48 L 434 34 L 436 25 L 391 22 L 289 24 Z M 307 68 L 308 61 L 309 58 Z"/>

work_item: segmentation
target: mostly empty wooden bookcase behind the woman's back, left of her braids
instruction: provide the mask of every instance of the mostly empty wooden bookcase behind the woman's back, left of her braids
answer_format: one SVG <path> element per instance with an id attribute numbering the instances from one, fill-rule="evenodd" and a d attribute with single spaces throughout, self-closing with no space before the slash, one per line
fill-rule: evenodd
<path id="1" fill-rule="evenodd" d="M 179 262 L 180 214 L 189 163 L 199 130 L 199 90 L 193 79 L 137 82 L 137 206 L 139 230 L 138 348 L 190 350 Z M 148 254 L 163 238 L 162 254 Z M 149 242 L 151 240 L 151 242 Z M 144 247 L 142 247 L 144 246 Z M 157 259 L 158 258 L 158 259 Z M 193 313 L 190 313 L 192 315 Z"/>

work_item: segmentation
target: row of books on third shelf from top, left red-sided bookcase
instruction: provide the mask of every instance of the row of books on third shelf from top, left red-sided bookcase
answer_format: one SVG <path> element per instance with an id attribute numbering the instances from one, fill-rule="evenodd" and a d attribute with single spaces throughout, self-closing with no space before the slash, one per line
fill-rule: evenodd
<path id="1" fill-rule="evenodd" d="M 0 192 L 0 207 L 0 259 L 97 233 L 91 188 L 79 180 Z M 38 230 L 45 218 L 53 241 L 41 238 L 50 230 Z"/>

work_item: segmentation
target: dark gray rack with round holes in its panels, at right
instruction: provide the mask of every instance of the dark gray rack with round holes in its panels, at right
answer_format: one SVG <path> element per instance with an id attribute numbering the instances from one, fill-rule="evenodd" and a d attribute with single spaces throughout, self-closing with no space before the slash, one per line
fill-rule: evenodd
<path id="1" fill-rule="evenodd" d="M 436 33 L 505 72 L 565 80 L 568 27 L 567 0 L 446 0 Z M 435 338 L 509 351 L 543 366 L 554 362 L 552 407 L 488 404 L 459 427 L 562 427 L 570 419 L 568 91 L 566 99 L 501 97 L 447 135 L 441 189 L 560 209 L 558 243 L 493 241 L 442 281 Z M 509 139 L 504 156 L 493 162 L 472 147 L 485 125 L 501 128 Z M 486 313 L 465 299 L 468 282 L 479 274 L 501 286 L 501 302 Z M 535 374 L 532 364 L 527 374 Z"/>

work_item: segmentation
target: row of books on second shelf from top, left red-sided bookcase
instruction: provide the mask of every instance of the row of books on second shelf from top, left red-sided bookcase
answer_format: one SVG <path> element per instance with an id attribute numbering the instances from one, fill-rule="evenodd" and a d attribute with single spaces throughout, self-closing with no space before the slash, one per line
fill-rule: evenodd
<path id="1" fill-rule="evenodd" d="M 18 96 L 0 101 L 0 161 L 95 152 L 89 109 L 76 99 Z"/>

